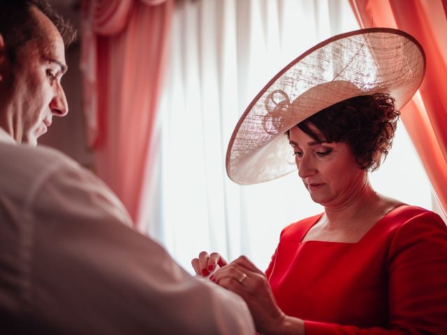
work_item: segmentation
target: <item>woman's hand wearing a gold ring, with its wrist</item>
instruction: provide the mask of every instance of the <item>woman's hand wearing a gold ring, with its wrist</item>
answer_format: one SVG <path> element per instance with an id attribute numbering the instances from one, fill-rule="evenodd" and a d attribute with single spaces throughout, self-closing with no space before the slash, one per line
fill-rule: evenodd
<path id="1" fill-rule="evenodd" d="M 241 256 L 217 270 L 210 279 L 245 300 L 256 330 L 263 334 L 304 334 L 302 320 L 290 318 L 277 306 L 263 271 Z"/>

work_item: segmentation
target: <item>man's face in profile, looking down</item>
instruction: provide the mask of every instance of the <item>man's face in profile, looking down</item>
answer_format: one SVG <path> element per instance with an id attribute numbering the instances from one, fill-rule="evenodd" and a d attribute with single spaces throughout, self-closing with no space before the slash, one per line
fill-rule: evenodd
<path id="1" fill-rule="evenodd" d="M 17 50 L 7 108 L 13 116 L 9 122 L 16 142 L 36 145 L 52 117 L 64 117 L 68 106 L 61 87 L 66 71 L 64 42 L 54 24 L 40 10 L 33 10 L 42 37 L 29 40 Z"/>

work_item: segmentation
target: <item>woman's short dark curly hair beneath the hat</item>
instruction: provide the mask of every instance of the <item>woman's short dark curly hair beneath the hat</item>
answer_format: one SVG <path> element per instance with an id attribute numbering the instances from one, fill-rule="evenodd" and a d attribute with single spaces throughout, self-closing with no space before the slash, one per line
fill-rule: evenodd
<path id="1" fill-rule="evenodd" d="M 394 98 L 376 93 L 331 105 L 300 122 L 298 128 L 316 141 L 345 142 L 360 168 L 374 171 L 388 155 L 399 116 Z"/>

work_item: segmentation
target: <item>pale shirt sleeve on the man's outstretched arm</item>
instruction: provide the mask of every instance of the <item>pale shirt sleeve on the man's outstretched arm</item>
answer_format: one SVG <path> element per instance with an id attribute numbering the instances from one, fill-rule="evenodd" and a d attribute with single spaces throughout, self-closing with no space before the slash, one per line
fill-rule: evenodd
<path id="1" fill-rule="evenodd" d="M 37 334 L 254 334 L 244 301 L 193 278 L 93 174 L 62 164 L 24 210 L 24 296 Z"/>

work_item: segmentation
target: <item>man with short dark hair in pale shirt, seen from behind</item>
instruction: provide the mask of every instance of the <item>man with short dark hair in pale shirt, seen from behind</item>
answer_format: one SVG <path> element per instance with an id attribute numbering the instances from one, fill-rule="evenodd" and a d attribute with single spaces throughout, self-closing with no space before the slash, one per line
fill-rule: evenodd
<path id="1" fill-rule="evenodd" d="M 240 297 L 189 276 L 98 178 L 34 147 L 68 112 L 66 28 L 43 0 L 0 2 L 1 334 L 253 334 Z"/>

